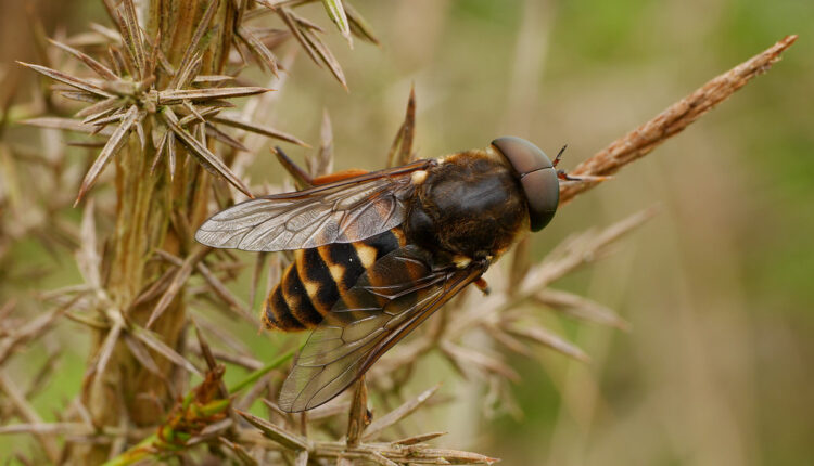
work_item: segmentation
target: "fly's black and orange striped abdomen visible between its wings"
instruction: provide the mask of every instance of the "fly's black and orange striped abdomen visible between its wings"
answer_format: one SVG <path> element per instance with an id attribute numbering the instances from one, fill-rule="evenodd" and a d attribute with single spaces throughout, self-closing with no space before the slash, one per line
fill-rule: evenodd
<path id="1" fill-rule="evenodd" d="M 313 328 L 379 258 L 405 245 L 400 228 L 356 243 L 294 251 L 294 261 L 266 298 L 262 320 L 285 332 Z"/>

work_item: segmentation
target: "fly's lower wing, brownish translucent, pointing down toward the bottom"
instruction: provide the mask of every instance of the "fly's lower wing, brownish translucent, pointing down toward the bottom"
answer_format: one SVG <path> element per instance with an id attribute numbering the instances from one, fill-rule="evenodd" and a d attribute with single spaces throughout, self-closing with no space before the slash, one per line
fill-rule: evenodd
<path id="1" fill-rule="evenodd" d="M 434 269 L 415 245 L 379 259 L 308 337 L 283 383 L 280 409 L 306 411 L 341 393 L 485 270 Z"/>

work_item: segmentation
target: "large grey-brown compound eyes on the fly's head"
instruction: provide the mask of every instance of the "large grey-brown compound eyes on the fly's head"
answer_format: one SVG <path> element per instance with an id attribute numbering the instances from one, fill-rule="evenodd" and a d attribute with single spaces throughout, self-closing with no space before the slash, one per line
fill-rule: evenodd
<path id="1" fill-rule="evenodd" d="M 529 204 L 531 230 L 542 230 L 554 218 L 560 202 L 560 181 L 546 154 L 531 142 L 504 137 L 492 141 L 514 169 Z"/>

